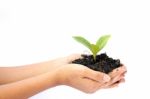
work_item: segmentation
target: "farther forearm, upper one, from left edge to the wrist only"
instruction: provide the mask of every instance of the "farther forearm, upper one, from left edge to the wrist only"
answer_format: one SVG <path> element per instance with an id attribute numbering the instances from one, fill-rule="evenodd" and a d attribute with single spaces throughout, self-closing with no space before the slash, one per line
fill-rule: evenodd
<path id="1" fill-rule="evenodd" d="M 56 60 L 51 60 L 17 67 L 0 67 L 0 84 L 11 83 L 51 72 L 59 66 Z"/>

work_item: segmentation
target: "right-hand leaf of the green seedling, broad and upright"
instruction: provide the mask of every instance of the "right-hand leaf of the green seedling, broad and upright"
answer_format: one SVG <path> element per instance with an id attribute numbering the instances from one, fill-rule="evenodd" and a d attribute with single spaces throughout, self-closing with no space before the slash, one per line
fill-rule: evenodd
<path id="1" fill-rule="evenodd" d="M 96 45 L 99 47 L 99 51 L 105 47 L 110 37 L 110 35 L 104 35 L 97 40 Z"/>

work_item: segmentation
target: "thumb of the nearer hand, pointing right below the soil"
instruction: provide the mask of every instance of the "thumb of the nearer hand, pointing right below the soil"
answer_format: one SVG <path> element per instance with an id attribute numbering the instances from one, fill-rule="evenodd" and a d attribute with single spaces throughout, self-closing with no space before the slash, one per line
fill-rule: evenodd
<path id="1" fill-rule="evenodd" d="M 94 71 L 92 69 L 87 68 L 84 72 L 85 78 L 92 79 L 97 82 L 109 82 L 110 77 L 109 75 L 99 72 L 99 71 Z"/>

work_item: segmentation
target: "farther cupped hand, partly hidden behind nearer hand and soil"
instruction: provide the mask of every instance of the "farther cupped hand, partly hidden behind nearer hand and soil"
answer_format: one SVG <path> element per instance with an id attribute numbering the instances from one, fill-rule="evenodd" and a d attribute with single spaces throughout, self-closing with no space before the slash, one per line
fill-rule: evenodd
<path id="1" fill-rule="evenodd" d="M 63 65 L 67 65 L 73 60 L 78 59 L 78 58 L 81 58 L 80 54 L 72 54 L 67 57 L 55 59 L 53 62 L 56 65 L 56 67 L 57 66 L 62 67 Z M 111 80 L 107 84 L 103 85 L 103 88 L 117 87 L 120 83 L 125 82 L 124 75 L 126 71 L 127 70 L 125 66 L 121 66 L 117 69 L 114 69 L 111 73 L 109 73 Z"/>

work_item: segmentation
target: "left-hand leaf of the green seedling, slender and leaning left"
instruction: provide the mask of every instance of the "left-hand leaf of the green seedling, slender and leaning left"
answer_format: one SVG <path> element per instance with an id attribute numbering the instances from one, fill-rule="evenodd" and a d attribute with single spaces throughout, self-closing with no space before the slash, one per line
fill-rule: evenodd
<path id="1" fill-rule="evenodd" d="M 88 40 L 86 40 L 85 38 L 81 37 L 81 36 L 73 36 L 73 38 L 78 41 L 79 43 L 83 44 L 84 46 L 86 46 L 87 48 L 89 48 L 90 50 L 92 50 L 91 48 L 91 44 Z"/>

